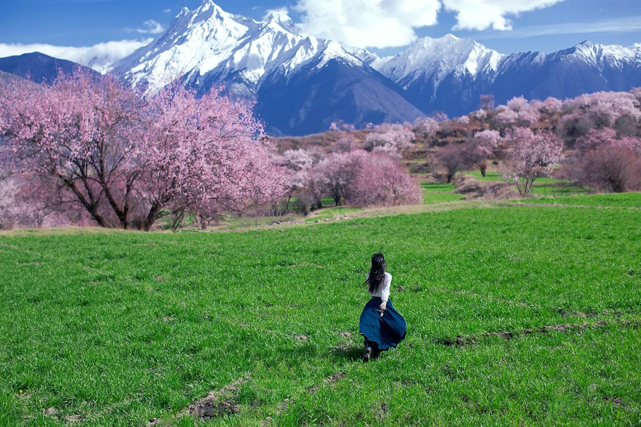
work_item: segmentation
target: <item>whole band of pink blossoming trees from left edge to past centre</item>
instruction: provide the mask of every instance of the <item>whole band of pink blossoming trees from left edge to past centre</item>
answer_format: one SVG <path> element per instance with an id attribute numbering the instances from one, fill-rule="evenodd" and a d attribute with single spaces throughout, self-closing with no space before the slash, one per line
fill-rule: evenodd
<path id="1" fill-rule="evenodd" d="M 318 206 L 326 196 L 336 205 L 419 202 L 398 162 L 414 137 L 404 126 L 371 126 L 358 140 L 340 124 L 333 153 L 278 155 L 253 105 L 221 93 L 175 83 L 146 94 L 80 70 L 51 86 L 0 88 L 0 227 L 47 216 L 150 230 L 163 217 L 177 226 L 185 215 L 207 223 L 274 212 L 294 194 Z"/>

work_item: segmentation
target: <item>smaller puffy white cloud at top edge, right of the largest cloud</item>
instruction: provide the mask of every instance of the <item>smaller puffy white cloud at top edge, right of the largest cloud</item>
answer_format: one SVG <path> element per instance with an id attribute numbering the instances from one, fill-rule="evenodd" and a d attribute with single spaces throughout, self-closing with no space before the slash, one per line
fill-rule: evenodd
<path id="1" fill-rule="evenodd" d="M 443 0 L 446 10 L 456 13 L 453 29 L 512 29 L 506 15 L 519 15 L 547 8 L 565 0 Z"/>

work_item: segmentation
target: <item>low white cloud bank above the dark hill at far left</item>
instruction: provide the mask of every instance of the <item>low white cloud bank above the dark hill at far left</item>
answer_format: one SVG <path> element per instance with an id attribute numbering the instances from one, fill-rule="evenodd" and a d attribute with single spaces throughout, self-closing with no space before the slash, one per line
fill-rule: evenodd
<path id="1" fill-rule="evenodd" d="M 0 43 L 0 57 L 40 52 L 54 58 L 78 62 L 99 72 L 106 72 L 113 62 L 128 56 L 136 49 L 153 40 L 121 40 L 87 47 L 54 46 L 51 44 L 6 44 Z"/>

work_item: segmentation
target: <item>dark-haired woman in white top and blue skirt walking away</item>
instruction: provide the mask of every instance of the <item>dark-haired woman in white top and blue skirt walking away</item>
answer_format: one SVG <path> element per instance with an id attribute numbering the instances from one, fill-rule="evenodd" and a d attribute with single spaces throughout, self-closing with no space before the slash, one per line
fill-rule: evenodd
<path id="1" fill-rule="evenodd" d="M 385 256 L 372 255 L 372 268 L 365 276 L 371 299 L 363 308 L 360 318 L 360 333 L 365 337 L 363 362 L 390 347 L 396 347 L 405 338 L 406 325 L 403 316 L 390 301 L 392 274 L 385 272 Z"/>

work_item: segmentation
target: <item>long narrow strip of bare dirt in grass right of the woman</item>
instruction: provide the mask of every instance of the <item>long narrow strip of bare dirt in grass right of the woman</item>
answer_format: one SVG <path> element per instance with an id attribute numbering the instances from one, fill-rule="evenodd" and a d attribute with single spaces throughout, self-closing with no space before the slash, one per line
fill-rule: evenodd
<path id="1" fill-rule="evenodd" d="M 617 325 L 622 328 L 638 328 L 641 326 L 641 319 L 629 320 L 613 320 L 613 321 L 599 321 L 599 322 L 583 322 L 583 323 L 564 323 L 553 324 L 549 326 L 538 326 L 537 328 L 526 328 L 516 331 L 499 331 L 499 332 L 484 332 L 478 335 L 457 335 L 454 338 L 436 339 L 436 344 L 442 344 L 448 347 L 462 347 L 478 344 L 479 339 L 484 337 L 503 337 L 505 340 L 510 340 L 518 335 L 528 335 L 531 333 L 546 333 L 549 331 L 567 332 L 574 330 L 587 330 L 588 328 L 605 328 L 609 325 Z"/>

